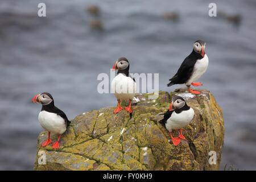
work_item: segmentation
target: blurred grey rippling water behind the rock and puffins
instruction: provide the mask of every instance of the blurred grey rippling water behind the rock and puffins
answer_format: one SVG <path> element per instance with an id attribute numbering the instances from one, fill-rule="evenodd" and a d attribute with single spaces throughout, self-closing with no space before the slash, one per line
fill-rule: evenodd
<path id="1" fill-rule="evenodd" d="M 37 16 L 38 3 L 47 17 Z M 130 72 L 159 73 L 167 88 L 197 39 L 207 42 L 209 68 L 200 81 L 224 111 L 225 144 L 220 169 L 233 164 L 256 169 L 256 1 L 214 1 L 217 10 L 241 14 L 240 26 L 208 16 L 212 1 L 0 1 L 0 169 L 32 170 L 40 105 L 31 98 L 49 92 L 69 119 L 114 106 L 97 92 L 99 73 L 110 74 L 121 56 Z M 89 26 L 88 5 L 98 5 L 104 30 Z M 163 18 L 179 13 L 178 21 Z"/>

